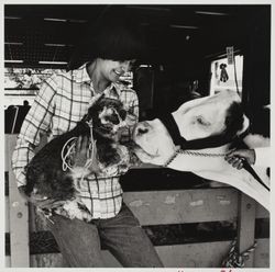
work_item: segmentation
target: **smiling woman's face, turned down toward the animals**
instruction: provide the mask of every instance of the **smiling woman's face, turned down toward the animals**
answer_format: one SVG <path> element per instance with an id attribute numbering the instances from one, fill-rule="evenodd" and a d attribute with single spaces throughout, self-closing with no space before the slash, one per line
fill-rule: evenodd
<path id="1" fill-rule="evenodd" d="M 101 75 L 106 80 L 116 82 L 121 76 L 131 70 L 134 61 L 135 59 L 123 61 L 100 59 Z"/>

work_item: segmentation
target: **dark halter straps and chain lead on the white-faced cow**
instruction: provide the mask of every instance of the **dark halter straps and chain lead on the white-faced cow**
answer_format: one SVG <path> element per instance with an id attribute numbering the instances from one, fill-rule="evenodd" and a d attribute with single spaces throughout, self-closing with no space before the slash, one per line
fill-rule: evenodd
<path id="1" fill-rule="evenodd" d="M 209 152 L 198 152 L 198 151 L 189 151 L 186 149 L 204 149 L 204 148 L 211 148 L 211 147 L 220 147 L 226 144 L 229 144 L 231 141 L 238 141 L 242 140 L 242 138 L 248 134 L 248 131 L 242 133 L 241 136 L 237 136 L 234 138 L 227 137 L 224 135 L 219 136 L 209 136 L 200 139 L 194 139 L 194 140 L 186 140 L 184 137 L 182 137 L 180 132 L 178 129 L 177 123 L 174 120 L 174 116 L 168 114 L 163 114 L 161 116 L 157 116 L 161 122 L 164 124 L 164 126 L 167 128 L 175 146 L 179 146 L 176 148 L 176 151 L 174 155 L 164 163 L 164 167 L 168 167 L 168 165 L 179 155 L 179 154 L 186 154 L 186 155 L 193 155 L 193 156 L 205 156 L 205 157 L 224 157 L 227 154 L 209 154 Z M 249 165 L 249 162 L 243 159 L 243 168 L 253 175 L 253 178 L 258 181 L 266 190 L 271 191 L 268 186 L 262 181 L 262 179 L 256 174 L 254 169 Z"/>

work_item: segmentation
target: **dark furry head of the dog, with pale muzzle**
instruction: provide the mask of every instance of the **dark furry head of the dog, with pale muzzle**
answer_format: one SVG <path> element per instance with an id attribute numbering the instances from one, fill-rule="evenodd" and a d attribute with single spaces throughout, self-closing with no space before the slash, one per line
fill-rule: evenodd
<path id="1" fill-rule="evenodd" d="M 127 126 L 125 116 L 121 101 L 101 95 L 91 104 L 82 121 L 92 125 L 94 134 L 116 139 L 119 128 Z"/>

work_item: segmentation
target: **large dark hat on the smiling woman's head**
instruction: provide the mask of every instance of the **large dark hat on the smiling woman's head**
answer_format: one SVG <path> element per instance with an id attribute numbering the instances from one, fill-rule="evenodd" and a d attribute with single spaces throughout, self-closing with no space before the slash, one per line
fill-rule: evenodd
<path id="1" fill-rule="evenodd" d="M 146 43 L 141 26 L 129 15 L 106 14 L 88 29 L 73 63 L 79 61 L 81 54 L 87 61 L 98 57 L 121 61 L 144 59 Z"/>

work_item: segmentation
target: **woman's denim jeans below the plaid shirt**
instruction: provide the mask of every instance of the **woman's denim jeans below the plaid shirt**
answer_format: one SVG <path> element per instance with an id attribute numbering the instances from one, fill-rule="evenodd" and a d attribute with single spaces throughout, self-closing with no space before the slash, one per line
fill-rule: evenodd
<path id="1" fill-rule="evenodd" d="M 103 268 L 101 243 L 124 268 L 163 268 L 154 246 L 132 212 L 122 204 L 108 219 L 85 223 L 61 215 L 51 217 L 48 227 L 72 268 Z"/>

